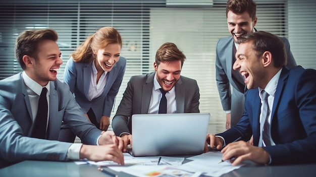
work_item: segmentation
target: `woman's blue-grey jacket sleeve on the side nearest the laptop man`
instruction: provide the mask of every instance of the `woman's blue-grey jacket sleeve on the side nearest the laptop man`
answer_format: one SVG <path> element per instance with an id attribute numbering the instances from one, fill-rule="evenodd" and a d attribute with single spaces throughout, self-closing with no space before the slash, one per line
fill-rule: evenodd
<path id="1" fill-rule="evenodd" d="M 125 70 L 126 70 L 126 58 L 121 56 L 119 62 L 121 63 L 119 75 L 116 78 L 116 80 L 114 81 L 111 89 L 109 90 L 109 92 L 106 96 L 106 99 L 104 99 L 104 107 L 103 107 L 102 115 L 106 115 L 108 117 L 110 117 L 110 115 L 111 115 L 111 110 L 113 108 L 114 99 L 119 92 L 119 89 L 121 87 L 123 77 L 125 74 Z"/>

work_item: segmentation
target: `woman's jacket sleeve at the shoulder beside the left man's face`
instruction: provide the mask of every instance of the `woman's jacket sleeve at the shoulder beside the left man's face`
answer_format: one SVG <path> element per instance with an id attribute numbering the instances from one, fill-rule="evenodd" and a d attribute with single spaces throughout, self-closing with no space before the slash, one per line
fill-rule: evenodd
<path id="1" fill-rule="evenodd" d="M 75 62 L 72 57 L 69 58 L 65 72 L 64 72 L 64 82 L 66 82 L 70 88 L 70 91 L 74 93 L 75 85 L 77 80 L 77 69 L 75 67 Z"/>

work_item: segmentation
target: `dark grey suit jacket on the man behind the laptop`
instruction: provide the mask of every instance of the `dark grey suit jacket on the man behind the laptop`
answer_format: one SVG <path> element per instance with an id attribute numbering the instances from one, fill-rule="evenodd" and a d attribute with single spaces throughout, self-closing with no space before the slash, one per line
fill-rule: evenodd
<path id="1" fill-rule="evenodd" d="M 123 132 L 132 133 L 131 120 L 129 118 L 133 114 L 148 113 L 154 74 L 155 72 L 133 76 L 128 82 L 116 115 L 112 120 L 112 128 L 117 136 L 120 136 Z M 199 112 L 200 94 L 195 80 L 180 76 L 175 89 L 176 113 Z"/>

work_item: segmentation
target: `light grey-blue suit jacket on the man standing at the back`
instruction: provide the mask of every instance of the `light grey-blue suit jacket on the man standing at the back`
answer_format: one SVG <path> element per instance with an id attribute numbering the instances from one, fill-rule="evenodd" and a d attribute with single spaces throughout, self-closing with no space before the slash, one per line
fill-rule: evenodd
<path id="1" fill-rule="evenodd" d="M 280 39 L 285 44 L 285 50 L 287 54 L 286 66 L 288 68 L 293 68 L 296 66 L 296 62 L 290 50 L 289 41 L 284 37 L 280 37 Z M 233 36 L 221 38 L 216 46 L 216 82 L 223 109 L 232 110 L 231 119 L 232 123 L 234 123 L 232 127 L 239 122 L 242 112 L 244 110 L 244 86 L 238 87 L 237 83 L 235 83 L 232 79 L 233 46 Z M 237 96 L 234 96 L 233 100 L 231 95 L 230 84 L 233 87 L 233 94 L 237 94 Z M 240 100 L 242 101 L 240 102 Z M 233 110 L 239 112 L 234 113 Z"/>

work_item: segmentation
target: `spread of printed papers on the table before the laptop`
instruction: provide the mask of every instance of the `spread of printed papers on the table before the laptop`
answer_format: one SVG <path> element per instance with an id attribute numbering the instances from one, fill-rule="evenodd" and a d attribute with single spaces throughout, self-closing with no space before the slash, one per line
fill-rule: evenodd
<path id="1" fill-rule="evenodd" d="M 218 163 L 222 159 L 222 153 L 211 151 L 187 158 L 190 162 L 183 163 L 184 157 L 149 156 L 133 157 L 129 153 L 124 154 L 125 165 L 119 165 L 114 161 L 94 162 L 89 160 L 74 161 L 76 164 L 89 163 L 97 166 L 107 166 L 115 171 L 123 171 L 142 177 L 197 177 L 201 174 L 207 176 L 221 176 L 241 165 L 232 166 L 228 161 Z M 161 161 L 157 165 L 159 157 Z"/>

